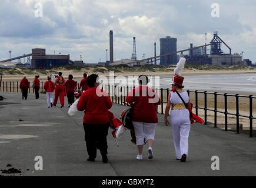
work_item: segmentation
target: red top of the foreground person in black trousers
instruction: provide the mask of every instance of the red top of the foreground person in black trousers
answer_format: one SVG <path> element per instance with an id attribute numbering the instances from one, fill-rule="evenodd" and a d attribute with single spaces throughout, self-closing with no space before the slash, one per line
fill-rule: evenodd
<path id="1" fill-rule="evenodd" d="M 97 96 L 96 88 L 89 88 L 82 93 L 77 109 L 84 112 L 84 123 L 102 125 L 109 122 L 108 109 L 113 105 L 108 94 L 100 90 L 104 96 Z"/>

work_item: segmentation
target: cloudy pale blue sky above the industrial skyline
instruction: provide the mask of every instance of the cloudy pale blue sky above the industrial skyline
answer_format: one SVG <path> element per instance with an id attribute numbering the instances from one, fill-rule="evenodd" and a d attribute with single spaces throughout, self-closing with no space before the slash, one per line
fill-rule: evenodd
<path id="1" fill-rule="evenodd" d="M 216 4 L 218 6 L 216 6 Z M 154 56 L 154 42 L 177 38 L 177 50 L 204 45 L 213 33 L 244 59 L 256 61 L 254 0 L 2 0 L 0 59 L 45 48 L 47 54 L 70 54 L 73 61 L 106 61 L 109 31 L 114 33 L 114 61 Z M 228 49 L 222 45 L 222 51 Z M 108 53 L 109 60 L 109 53 Z M 22 59 L 21 61 L 24 61 Z"/>

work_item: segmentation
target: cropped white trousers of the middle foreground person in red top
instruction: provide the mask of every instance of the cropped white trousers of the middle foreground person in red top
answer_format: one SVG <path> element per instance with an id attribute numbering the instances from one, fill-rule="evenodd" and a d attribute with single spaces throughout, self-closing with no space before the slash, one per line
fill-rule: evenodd
<path id="1" fill-rule="evenodd" d="M 157 123 L 132 122 L 137 145 L 144 145 L 149 139 L 155 140 L 155 126 Z"/>

